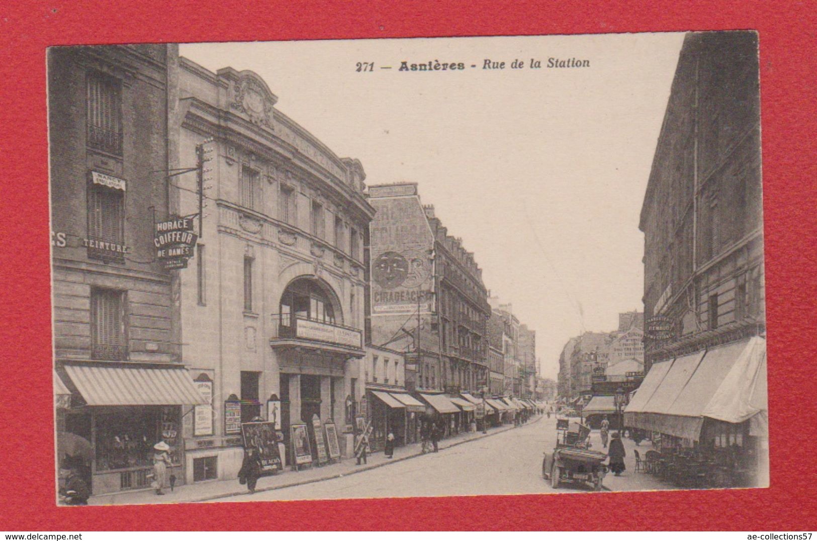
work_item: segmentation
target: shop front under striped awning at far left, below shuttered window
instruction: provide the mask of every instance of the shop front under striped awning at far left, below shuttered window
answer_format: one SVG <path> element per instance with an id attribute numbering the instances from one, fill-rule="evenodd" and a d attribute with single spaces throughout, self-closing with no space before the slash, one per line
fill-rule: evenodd
<path id="1" fill-rule="evenodd" d="M 182 409 L 206 404 L 187 369 L 83 363 L 65 364 L 59 372 L 71 391 L 70 407 L 58 415 L 60 467 L 81 472 L 92 494 L 144 489 L 150 486 L 153 446 L 164 441 L 172 459 L 168 478 L 184 483 Z"/>

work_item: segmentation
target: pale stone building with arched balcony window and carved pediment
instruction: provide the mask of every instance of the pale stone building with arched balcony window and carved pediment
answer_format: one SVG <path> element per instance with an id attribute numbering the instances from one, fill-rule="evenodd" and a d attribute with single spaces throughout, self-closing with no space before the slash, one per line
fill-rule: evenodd
<path id="1" fill-rule="evenodd" d="M 252 71 L 181 58 L 171 167 L 207 154 L 199 244 L 181 270 L 182 358 L 212 408 L 185 418 L 188 481 L 238 472 L 240 423 L 290 427 L 317 416 L 345 433 L 364 396 L 364 169 L 277 107 Z M 203 146 L 202 146 L 203 145 Z M 194 174 L 175 177 L 172 212 L 199 212 Z M 314 446 L 313 446 L 314 449 Z M 287 457 L 291 460 L 291 457 Z"/>

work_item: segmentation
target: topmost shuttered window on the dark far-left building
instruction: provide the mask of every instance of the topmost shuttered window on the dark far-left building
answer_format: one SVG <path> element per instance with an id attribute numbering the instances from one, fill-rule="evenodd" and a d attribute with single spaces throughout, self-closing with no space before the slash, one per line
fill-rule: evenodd
<path id="1" fill-rule="evenodd" d="M 122 84 L 103 74 L 87 74 L 87 145 L 122 154 Z"/>

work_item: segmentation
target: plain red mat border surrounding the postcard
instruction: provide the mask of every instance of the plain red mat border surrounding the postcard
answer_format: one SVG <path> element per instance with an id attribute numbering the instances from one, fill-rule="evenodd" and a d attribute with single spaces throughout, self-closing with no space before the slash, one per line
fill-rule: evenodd
<path id="1" fill-rule="evenodd" d="M 810 2 L 7 2 L 0 9 L 0 530 L 814 528 L 815 9 Z M 61 508 L 53 503 L 48 45 L 757 29 L 772 487 L 768 490 Z M 531 472 L 536 475 L 536 472 Z"/>

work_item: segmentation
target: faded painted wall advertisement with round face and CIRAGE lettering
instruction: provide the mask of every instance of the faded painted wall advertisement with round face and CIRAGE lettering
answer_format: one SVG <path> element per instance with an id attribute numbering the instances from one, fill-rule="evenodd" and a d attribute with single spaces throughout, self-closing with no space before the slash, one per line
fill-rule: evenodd
<path id="1" fill-rule="evenodd" d="M 417 196 L 373 197 L 372 306 L 379 314 L 431 312 L 434 238 Z"/>

